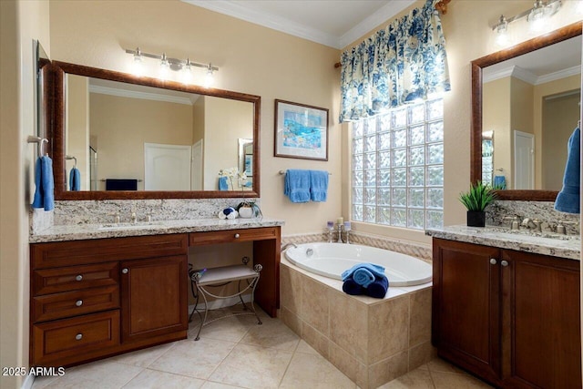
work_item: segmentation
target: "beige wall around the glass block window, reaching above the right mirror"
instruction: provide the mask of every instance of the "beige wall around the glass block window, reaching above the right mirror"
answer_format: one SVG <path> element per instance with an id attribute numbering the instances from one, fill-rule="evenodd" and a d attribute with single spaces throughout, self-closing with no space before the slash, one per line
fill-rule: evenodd
<path id="1" fill-rule="evenodd" d="M 514 43 L 523 42 L 531 37 L 543 35 L 561 26 L 577 22 L 578 15 L 574 8 L 578 2 L 563 2 L 563 7 L 550 19 L 545 31 L 530 32 L 526 20 L 519 20 L 511 25 L 510 38 Z M 414 6 L 422 6 L 424 1 L 415 2 Z M 481 56 L 496 52 L 501 47 L 496 46 L 495 34 L 491 26 L 501 14 L 517 15 L 532 7 L 532 1 L 453 1 L 447 5 L 447 14 L 441 15 L 446 40 L 447 59 L 452 90 L 445 94 L 444 125 L 445 125 L 445 225 L 465 223 L 465 208 L 457 200 L 459 192 L 467 189 L 470 182 L 470 131 L 472 123 L 471 106 L 471 67 L 470 62 Z M 411 8 L 411 7 L 410 7 Z M 406 14 L 409 9 L 395 16 Z M 384 26 L 374 28 L 361 38 L 355 40 L 352 47 L 371 36 Z M 343 145 L 348 142 L 348 125 L 342 126 Z M 343 149 L 346 155 L 347 148 Z M 348 185 L 348 161 L 343 160 L 343 183 Z M 348 215 L 350 191 L 343 187 L 343 214 Z M 404 240 L 424 241 L 430 239 L 422 231 L 416 232 L 398 228 L 373 226 L 364 223 L 354 223 L 354 229 L 375 235 L 390 235 Z"/>

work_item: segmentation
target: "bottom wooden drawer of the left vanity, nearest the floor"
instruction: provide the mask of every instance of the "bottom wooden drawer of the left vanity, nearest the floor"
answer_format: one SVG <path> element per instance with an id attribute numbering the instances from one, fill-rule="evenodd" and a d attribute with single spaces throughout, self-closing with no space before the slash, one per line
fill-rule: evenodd
<path id="1" fill-rule="evenodd" d="M 63 366 L 78 360 L 79 354 L 111 353 L 119 344 L 119 311 L 34 324 L 32 343 L 34 365 Z"/>

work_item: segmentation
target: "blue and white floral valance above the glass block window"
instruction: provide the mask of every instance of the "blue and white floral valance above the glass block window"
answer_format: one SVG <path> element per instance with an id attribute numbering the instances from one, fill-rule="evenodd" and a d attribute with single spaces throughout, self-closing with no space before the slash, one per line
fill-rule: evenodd
<path id="1" fill-rule="evenodd" d="M 423 8 L 343 52 L 341 122 L 450 90 L 436 1 L 427 0 Z"/>

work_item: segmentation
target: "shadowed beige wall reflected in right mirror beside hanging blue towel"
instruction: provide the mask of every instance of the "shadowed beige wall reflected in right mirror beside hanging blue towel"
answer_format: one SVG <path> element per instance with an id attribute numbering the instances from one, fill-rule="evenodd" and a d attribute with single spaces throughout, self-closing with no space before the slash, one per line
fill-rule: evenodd
<path id="1" fill-rule="evenodd" d="M 560 190 L 567 162 L 568 138 L 579 120 L 580 89 L 565 97 L 545 99 L 543 103 L 543 188 Z"/>

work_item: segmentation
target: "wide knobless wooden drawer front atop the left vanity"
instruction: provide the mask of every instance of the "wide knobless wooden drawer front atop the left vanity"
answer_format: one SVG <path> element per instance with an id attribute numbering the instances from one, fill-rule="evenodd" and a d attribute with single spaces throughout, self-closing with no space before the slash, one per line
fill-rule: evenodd
<path id="1" fill-rule="evenodd" d="M 30 245 L 32 269 L 182 255 L 189 251 L 187 234 L 57 241 Z"/>

